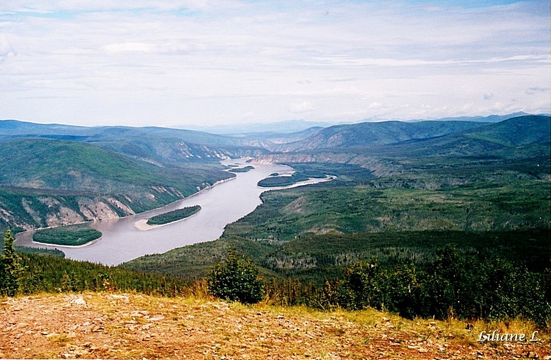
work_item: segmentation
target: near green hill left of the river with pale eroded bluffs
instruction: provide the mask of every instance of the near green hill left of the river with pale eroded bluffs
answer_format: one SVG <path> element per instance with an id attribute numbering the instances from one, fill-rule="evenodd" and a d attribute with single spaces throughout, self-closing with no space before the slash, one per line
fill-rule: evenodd
<path id="1" fill-rule="evenodd" d="M 159 167 L 83 142 L 12 140 L 0 147 L 0 229 L 132 215 L 231 177 L 209 163 Z"/>

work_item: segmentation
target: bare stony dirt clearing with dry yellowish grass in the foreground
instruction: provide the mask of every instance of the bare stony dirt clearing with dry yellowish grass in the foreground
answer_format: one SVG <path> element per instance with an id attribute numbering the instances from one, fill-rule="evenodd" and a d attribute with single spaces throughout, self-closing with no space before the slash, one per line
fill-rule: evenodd
<path id="1" fill-rule="evenodd" d="M 539 341 L 477 341 L 491 327 L 465 325 L 375 310 L 122 293 L 37 295 L 0 298 L 0 358 L 551 359 L 548 334 L 537 333 Z"/>

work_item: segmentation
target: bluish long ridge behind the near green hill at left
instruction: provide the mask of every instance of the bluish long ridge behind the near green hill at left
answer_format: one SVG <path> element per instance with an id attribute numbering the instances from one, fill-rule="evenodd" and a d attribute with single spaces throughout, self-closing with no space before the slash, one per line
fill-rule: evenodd
<path id="1" fill-rule="evenodd" d="M 266 152 L 254 140 L 163 127 L 79 127 L 0 120 L 0 142 L 41 138 L 90 144 L 157 164 L 203 162 Z"/>

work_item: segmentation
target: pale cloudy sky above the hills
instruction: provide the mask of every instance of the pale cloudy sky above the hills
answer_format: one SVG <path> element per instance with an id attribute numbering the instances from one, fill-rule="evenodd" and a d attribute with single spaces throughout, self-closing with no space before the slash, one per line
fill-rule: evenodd
<path id="1" fill-rule="evenodd" d="M 218 125 L 550 112 L 548 0 L 3 0 L 0 118 Z"/>

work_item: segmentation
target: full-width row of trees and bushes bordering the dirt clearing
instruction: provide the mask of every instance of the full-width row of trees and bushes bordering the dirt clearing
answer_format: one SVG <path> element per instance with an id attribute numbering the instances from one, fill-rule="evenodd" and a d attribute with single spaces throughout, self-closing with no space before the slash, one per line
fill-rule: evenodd
<path id="1" fill-rule="evenodd" d="M 284 306 L 331 310 L 377 308 L 406 318 L 508 319 L 551 326 L 551 269 L 526 266 L 491 253 L 467 253 L 453 244 L 439 248 L 427 264 L 357 262 L 323 286 L 296 279 L 260 279 L 258 268 L 230 251 L 202 284 L 211 295 L 246 304 L 262 299 Z M 200 286 L 199 286 L 200 287 Z M 0 295 L 17 293 L 127 291 L 178 296 L 197 283 L 180 277 L 75 262 L 59 257 L 17 254 L 6 231 L 0 255 Z"/>

